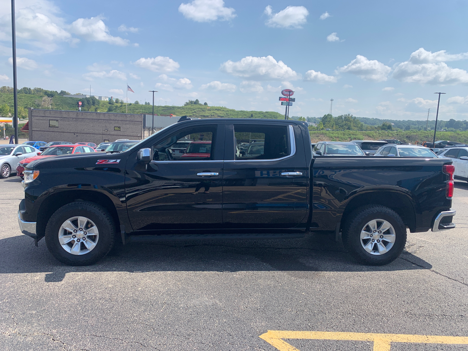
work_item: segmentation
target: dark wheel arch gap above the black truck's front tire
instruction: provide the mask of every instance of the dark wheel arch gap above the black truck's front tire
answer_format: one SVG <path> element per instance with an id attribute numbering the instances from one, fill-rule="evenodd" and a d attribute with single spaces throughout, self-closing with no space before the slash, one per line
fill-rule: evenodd
<path id="1" fill-rule="evenodd" d="M 79 200 L 90 201 L 102 206 L 110 213 L 110 216 L 115 221 L 116 227 L 118 228 L 120 226 L 116 205 L 106 194 L 95 190 L 73 189 L 57 191 L 47 196 L 39 206 L 36 224 L 38 239 L 44 237 L 47 222 L 55 211 L 66 204 Z"/>

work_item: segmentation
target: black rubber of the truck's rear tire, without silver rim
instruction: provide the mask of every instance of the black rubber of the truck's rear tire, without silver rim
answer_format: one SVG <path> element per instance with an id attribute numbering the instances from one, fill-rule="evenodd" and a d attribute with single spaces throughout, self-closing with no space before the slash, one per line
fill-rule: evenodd
<path id="1" fill-rule="evenodd" d="M 373 219 L 388 221 L 395 230 L 395 242 L 388 252 L 373 255 L 367 252 L 361 244 L 361 230 Z M 388 207 L 381 205 L 366 205 L 353 211 L 342 232 L 344 248 L 359 263 L 380 266 L 394 261 L 402 253 L 406 245 L 406 227 L 401 217 Z"/>

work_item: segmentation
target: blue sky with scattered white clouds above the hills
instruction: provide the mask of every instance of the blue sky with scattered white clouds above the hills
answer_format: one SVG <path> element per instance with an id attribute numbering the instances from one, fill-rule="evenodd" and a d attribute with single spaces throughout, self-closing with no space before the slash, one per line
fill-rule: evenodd
<path id="1" fill-rule="evenodd" d="M 0 85 L 12 85 L 0 0 Z M 181 105 L 468 118 L 466 1 L 17 0 L 18 87 Z M 161 101 L 160 101 L 161 100 Z"/>

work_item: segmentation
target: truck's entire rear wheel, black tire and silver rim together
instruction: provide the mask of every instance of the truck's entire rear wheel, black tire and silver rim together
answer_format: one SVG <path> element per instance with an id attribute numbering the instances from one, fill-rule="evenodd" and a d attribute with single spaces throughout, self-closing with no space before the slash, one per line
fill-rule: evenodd
<path id="1" fill-rule="evenodd" d="M 378 266 L 400 256 L 406 244 L 406 227 L 395 211 L 381 205 L 366 205 L 348 218 L 343 228 L 343 244 L 358 262 Z"/>

